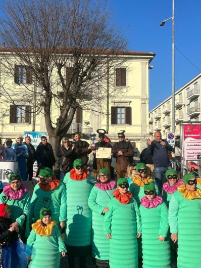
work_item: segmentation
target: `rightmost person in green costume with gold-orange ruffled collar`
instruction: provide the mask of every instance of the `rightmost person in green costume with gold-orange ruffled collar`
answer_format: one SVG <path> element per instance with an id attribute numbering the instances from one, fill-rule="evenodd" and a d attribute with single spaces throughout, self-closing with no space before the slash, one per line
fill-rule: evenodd
<path id="1" fill-rule="evenodd" d="M 178 268 L 200 267 L 201 190 L 194 174 L 187 173 L 183 184 L 174 192 L 169 204 L 171 239 L 178 239 Z"/>

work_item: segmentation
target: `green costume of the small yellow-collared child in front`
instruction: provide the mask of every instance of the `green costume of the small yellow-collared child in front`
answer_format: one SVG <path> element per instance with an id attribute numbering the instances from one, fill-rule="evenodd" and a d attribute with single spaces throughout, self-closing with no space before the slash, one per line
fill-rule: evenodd
<path id="1" fill-rule="evenodd" d="M 59 268 L 61 252 L 66 252 L 64 241 L 57 225 L 53 227 L 52 234 L 40 236 L 31 231 L 27 245 L 32 247 L 29 268 Z"/>

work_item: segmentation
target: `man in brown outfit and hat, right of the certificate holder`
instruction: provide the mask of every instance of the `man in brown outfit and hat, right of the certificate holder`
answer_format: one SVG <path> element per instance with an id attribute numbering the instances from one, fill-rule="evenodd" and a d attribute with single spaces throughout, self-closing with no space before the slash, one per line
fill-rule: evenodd
<path id="1" fill-rule="evenodd" d="M 125 141 L 125 130 L 118 133 L 119 142 L 117 142 L 113 149 L 113 157 L 116 158 L 117 166 L 117 180 L 120 177 L 126 177 L 127 166 L 130 164 L 130 159 L 133 157 L 133 146 L 130 142 Z"/>

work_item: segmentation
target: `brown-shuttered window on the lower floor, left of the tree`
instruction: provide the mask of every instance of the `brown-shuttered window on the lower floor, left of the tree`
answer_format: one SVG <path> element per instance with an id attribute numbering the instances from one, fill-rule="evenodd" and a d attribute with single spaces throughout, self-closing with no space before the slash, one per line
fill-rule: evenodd
<path id="1" fill-rule="evenodd" d="M 10 105 L 10 123 L 30 123 L 31 106 Z"/>

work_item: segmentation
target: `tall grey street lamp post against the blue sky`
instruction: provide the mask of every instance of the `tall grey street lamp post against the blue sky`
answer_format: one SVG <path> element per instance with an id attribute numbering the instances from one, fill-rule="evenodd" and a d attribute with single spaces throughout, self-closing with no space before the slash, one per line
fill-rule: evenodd
<path id="1" fill-rule="evenodd" d="M 174 45 L 174 0 L 172 0 L 172 17 L 166 20 L 163 20 L 160 26 L 164 26 L 166 21 L 172 20 L 172 132 L 175 135 L 175 45 Z M 175 148 L 173 150 L 173 154 L 175 154 Z M 173 158 L 173 162 L 175 162 L 175 155 Z"/>

